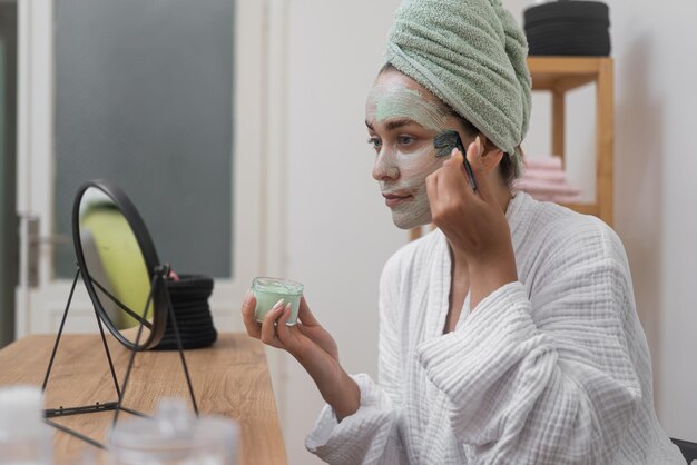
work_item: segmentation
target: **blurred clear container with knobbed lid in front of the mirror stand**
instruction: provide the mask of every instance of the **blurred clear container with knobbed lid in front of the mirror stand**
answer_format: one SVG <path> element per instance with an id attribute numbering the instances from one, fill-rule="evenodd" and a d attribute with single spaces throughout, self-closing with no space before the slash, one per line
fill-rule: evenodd
<path id="1" fill-rule="evenodd" d="M 237 424 L 196 418 L 183 400 L 160 400 L 155 418 L 119 422 L 111 433 L 114 465 L 236 465 Z"/>

